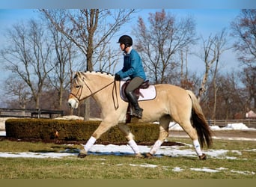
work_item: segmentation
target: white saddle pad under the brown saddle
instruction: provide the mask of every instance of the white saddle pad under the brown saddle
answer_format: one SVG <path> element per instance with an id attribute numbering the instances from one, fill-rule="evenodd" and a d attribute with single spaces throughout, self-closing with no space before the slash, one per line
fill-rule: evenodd
<path id="1" fill-rule="evenodd" d="M 121 91 L 122 86 L 124 85 L 124 81 L 120 82 L 120 94 L 121 94 L 121 98 L 126 101 L 126 96 L 123 96 L 123 93 Z M 144 100 L 152 100 L 156 98 L 156 88 L 154 85 L 150 85 L 148 88 L 146 89 L 139 89 L 139 97 L 138 97 L 138 101 L 144 101 Z"/>

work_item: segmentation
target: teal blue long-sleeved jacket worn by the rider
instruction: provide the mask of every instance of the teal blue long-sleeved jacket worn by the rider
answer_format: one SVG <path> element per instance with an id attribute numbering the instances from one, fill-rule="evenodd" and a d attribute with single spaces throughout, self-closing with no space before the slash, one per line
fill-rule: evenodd
<path id="1" fill-rule="evenodd" d="M 141 57 L 134 49 L 132 49 L 129 54 L 124 55 L 124 67 L 122 70 L 118 71 L 118 75 L 121 77 L 121 79 L 127 77 L 133 79 L 134 77 L 138 76 L 141 77 L 141 79 L 144 79 L 144 81 L 146 80 Z"/>

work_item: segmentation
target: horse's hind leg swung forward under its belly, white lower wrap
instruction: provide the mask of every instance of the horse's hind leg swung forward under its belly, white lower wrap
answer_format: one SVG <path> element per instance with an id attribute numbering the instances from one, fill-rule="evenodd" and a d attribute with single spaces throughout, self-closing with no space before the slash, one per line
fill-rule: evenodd
<path id="1" fill-rule="evenodd" d="M 162 142 L 165 141 L 165 138 L 168 137 L 169 123 L 171 121 L 171 117 L 166 115 L 160 118 L 159 120 L 159 137 L 153 147 L 151 147 L 150 152 L 147 153 L 147 157 L 153 156 L 156 151 L 161 146 Z"/>

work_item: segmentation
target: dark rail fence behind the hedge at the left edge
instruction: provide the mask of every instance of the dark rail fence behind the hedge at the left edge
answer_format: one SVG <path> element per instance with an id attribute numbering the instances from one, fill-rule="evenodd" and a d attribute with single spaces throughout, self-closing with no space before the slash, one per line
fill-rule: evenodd
<path id="1" fill-rule="evenodd" d="M 0 108 L 0 117 L 55 117 L 55 115 L 63 116 L 64 111 L 58 110 L 48 110 L 41 108 L 31 108 L 31 109 L 22 109 L 22 108 Z"/>

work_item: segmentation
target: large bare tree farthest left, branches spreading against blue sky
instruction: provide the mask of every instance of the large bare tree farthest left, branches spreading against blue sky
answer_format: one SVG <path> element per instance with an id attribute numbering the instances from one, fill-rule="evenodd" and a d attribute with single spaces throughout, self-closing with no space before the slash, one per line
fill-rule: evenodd
<path id="1" fill-rule="evenodd" d="M 39 96 L 46 77 L 52 70 L 47 66 L 51 43 L 44 31 L 43 25 L 34 19 L 28 25 L 13 25 L 7 32 L 9 45 L 1 50 L 5 67 L 28 85 L 36 108 L 40 106 Z"/>

